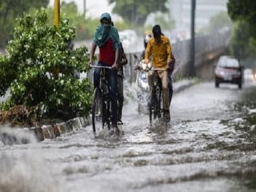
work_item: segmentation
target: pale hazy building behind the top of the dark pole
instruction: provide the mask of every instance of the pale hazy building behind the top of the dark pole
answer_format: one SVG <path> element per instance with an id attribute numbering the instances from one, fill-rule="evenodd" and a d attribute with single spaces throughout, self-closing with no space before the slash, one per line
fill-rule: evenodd
<path id="1" fill-rule="evenodd" d="M 227 11 L 228 0 L 197 0 L 196 28 L 209 24 L 210 18 L 220 11 Z M 191 0 L 170 0 L 170 12 L 174 16 L 177 28 L 189 28 L 191 21 Z"/>

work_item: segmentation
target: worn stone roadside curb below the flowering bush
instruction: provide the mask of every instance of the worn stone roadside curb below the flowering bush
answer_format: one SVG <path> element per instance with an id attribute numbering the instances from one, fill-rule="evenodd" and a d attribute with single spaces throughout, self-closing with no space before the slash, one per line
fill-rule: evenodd
<path id="1" fill-rule="evenodd" d="M 90 125 L 90 120 L 84 117 L 76 117 L 63 123 L 55 125 L 42 125 L 41 127 L 31 127 L 23 129 L 1 129 L 0 139 L 5 145 L 30 143 L 32 138 L 29 136 L 32 133 L 37 141 L 44 139 L 55 139 L 63 133 L 77 131 Z"/>

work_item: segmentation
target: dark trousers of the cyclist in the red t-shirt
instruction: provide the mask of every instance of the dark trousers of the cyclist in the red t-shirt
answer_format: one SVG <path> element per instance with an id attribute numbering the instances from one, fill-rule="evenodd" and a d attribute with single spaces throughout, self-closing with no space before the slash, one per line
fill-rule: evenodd
<path id="1" fill-rule="evenodd" d="M 107 65 L 99 61 L 98 66 Z M 100 70 L 94 69 L 94 88 L 100 86 Z M 111 121 L 112 125 L 117 125 L 117 70 L 106 69 L 106 81 L 110 90 Z"/>

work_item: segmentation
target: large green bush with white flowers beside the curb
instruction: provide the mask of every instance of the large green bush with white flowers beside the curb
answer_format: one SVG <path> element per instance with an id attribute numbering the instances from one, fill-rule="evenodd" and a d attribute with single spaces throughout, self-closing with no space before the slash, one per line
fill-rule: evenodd
<path id="1" fill-rule="evenodd" d="M 43 9 L 34 17 L 24 13 L 7 45 L 7 55 L 0 57 L 0 95 L 10 90 L 1 110 L 24 104 L 36 106 L 40 118 L 87 115 L 92 84 L 88 79 L 76 79 L 73 70 L 86 71 L 88 50 L 67 49 L 74 37 L 75 28 L 67 19 L 56 29 L 48 24 Z"/>

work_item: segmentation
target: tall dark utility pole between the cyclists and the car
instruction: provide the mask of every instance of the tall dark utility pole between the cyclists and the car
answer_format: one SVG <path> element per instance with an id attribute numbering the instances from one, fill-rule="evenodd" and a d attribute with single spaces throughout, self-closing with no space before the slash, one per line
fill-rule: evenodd
<path id="1" fill-rule="evenodd" d="M 190 42 L 190 65 L 189 76 L 195 76 L 195 4 L 196 0 L 191 0 L 191 42 Z"/>

